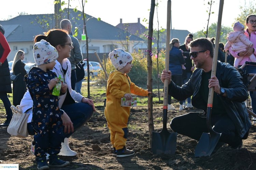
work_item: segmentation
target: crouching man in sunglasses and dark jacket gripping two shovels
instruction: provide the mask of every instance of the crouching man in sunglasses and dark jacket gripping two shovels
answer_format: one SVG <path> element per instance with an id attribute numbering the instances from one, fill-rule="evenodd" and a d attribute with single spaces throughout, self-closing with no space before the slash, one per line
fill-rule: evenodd
<path id="1" fill-rule="evenodd" d="M 188 113 L 172 119 L 170 127 L 174 132 L 199 140 L 202 133 L 209 133 L 206 113 L 209 88 L 214 88 L 211 124 L 213 130 L 222 133 L 215 151 L 227 143 L 233 149 L 242 148 L 242 139 L 246 139 L 251 122 L 244 101 L 247 90 L 241 81 L 239 72 L 229 64 L 217 62 L 216 76 L 211 77 L 213 64 L 213 44 L 207 38 L 191 41 L 190 58 L 197 68 L 189 81 L 182 87 L 171 81 L 171 72 L 163 70 L 161 80 L 169 80 L 168 95 L 178 101 L 189 96 L 192 105 L 202 109 L 203 113 Z M 214 152 L 215 152 L 214 151 Z"/>

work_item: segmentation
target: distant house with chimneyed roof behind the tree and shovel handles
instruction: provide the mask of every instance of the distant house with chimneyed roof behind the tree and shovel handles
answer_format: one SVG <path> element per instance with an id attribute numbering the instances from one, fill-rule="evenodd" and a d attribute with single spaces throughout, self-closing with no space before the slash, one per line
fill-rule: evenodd
<path id="1" fill-rule="evenodd" d="M 122 18 L 120 18 L 120 23 L 118 23 L 116 27 L 123 29 L 124 31 L 127 31 L 132 35 L 136 35 L 136 36 L 148 34 L 148 29 L 146 29 L 146 27 L 140 23 L 140 18 L 138 18 L 138 22 L 135 22 L 135 23 L 123 23 Z M 171 29 L 170 40 L 172 38 L 178 38 L 181 44 L 183 44 L 186 36 L 189 33 L 190 32 L 188 30 Z M 155 38 L 153 40 L 154 44 L 152 45 L 152 47 L 157 47 L 157 37 L 154 37 L 154 38 Z M 166 30 L 159 35 L 158 47 L 163 49 L 166 48 Z M 147 41 L 140 42 L 139 44 L 136 45 L 135 49 L 147 49 Z"/>

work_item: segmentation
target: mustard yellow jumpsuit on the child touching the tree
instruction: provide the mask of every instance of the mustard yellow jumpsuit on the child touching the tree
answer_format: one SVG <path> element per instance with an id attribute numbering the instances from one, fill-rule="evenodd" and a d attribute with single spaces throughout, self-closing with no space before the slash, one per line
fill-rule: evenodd
<path id="1" fill-rule="evenodd" d="M 139 96 L 148 95 L 148 91 L 132 83 L 127 74 L 120 71 L 111 72 L 106 89 L 104 115 L 110 129 L 111 144 L 116 150 L 123 149 L 127 140 L 127 123 L 130 116 L 130 107 L 121 106 L 121 98 L 126 93 Z"/>

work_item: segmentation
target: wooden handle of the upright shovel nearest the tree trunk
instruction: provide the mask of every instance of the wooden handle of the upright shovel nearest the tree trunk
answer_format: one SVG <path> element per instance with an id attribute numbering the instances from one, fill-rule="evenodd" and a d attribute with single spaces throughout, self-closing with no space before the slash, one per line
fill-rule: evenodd
<path id="1" fill-rule="evenodd" d="M 169 70 L 169 51 L 170 51 L 170 25 L 171 25 L 171 0 L 167 1 L 167 27 L 166 27 L 166 51 L 165 51 L 165 70 Z M 168 104 L 168 79 L 163 83 L 163 107 Z M 167 108 L 166 108 L 167 109 Z"/>

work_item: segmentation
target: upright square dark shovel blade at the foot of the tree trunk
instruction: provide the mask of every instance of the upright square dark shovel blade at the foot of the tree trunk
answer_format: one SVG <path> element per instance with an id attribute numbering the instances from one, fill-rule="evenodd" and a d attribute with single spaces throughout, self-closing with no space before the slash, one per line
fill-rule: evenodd
<path id="1" fill-rule="evenodd" d="M 151 150 L 153 154 L 174 155 L 177 146 L 177 133 L 170 133 L 167 129 L 153 132 Z"/>

